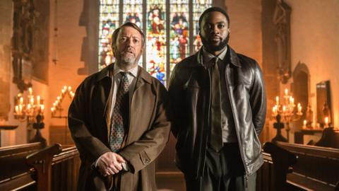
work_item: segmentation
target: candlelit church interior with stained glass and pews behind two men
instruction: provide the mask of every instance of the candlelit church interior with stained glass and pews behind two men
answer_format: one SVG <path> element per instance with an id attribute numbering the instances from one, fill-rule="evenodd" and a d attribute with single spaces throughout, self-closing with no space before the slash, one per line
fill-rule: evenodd
<path id="1" fill-rule="evenodd" d="M 0 190 L 76 190 L 67 112 L 81 81 L 114 62 L 114 29 L 143 30 L 138 64 L 168 87 L 175 64 L 200 49 L 210 6 L 227 10 L 229 45 L 263 71 L 257 190 L 339 190 L 337 0 L 1 0 Z M 185 190 L 175 142 L 155 161 L 158 190 Z"/>

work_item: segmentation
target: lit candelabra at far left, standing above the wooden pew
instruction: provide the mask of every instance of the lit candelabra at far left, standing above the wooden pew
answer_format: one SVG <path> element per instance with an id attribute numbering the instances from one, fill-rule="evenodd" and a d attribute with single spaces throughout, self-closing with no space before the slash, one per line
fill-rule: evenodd
<path id="1" fill-rule="evenodd" d="M 32 88 L 28 88 L 27 99 L 24 99 L 22 93 L 14 98 L 14 118 L 20 120 L 21 122 L 27 121 L 27 139 L 30 140 L 30 134 L 32 129 L 35 128 L 36 123 L 43 124 L 42 120 L 44 119 L 44 104 L 40 96 L 32 95 Z M 40 125 L 39 129 L 44 128 L 44 125 Z M 40 134 L 39 129 L 37 129 L 37 134 Z M 41 134 L 40 134 L 41 137 Z M 42 137 L 41 137 L 42 138 Z M 43 138 L 42 138 L 43 139 Z"/>

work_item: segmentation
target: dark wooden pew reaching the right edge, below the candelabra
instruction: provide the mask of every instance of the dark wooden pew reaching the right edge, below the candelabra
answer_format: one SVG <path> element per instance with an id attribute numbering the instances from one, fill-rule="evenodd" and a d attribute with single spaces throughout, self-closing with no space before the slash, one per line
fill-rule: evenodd
<path id="1" fill-rule="evenodd" d="M 287 183 L 304 190 L 339 190 L 339 149 L 278 142 L 298 156 Z"/>

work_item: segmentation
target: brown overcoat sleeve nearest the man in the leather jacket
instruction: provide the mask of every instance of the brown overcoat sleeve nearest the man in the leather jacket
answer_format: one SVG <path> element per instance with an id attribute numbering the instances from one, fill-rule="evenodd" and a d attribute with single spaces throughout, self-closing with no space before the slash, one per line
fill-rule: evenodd
<path id="1" fill-rule="evenodd" d="M 167 91 L 164 86 L 160 86 L 157 92 L 159 97 L 150 129 L 143 134 L 141 139 L 134 141 L 119 152 L 129 162 L 131 173 L 137 173 L 152 163 L 165 148 L 169 139 L 170 122 L 167 117 Z"/>

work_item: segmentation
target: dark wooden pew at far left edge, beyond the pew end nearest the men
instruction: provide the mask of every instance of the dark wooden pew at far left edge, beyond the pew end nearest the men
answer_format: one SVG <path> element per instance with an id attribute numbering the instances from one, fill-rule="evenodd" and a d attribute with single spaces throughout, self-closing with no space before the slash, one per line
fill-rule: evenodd
<path id="1" fill-rule="evenodd" d="M 43 148 L 41 143 L 0 148 L 0 190 L 35 190 L 32 169 L 25 163 L 26 156 Z"/>

